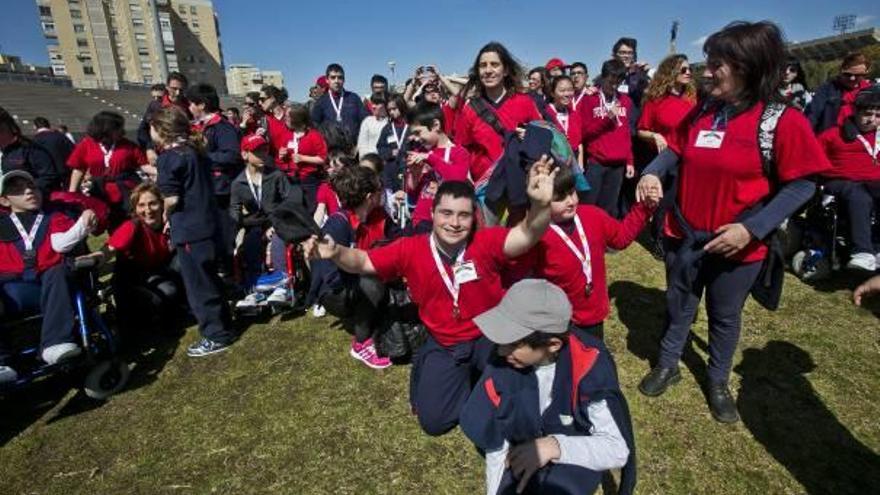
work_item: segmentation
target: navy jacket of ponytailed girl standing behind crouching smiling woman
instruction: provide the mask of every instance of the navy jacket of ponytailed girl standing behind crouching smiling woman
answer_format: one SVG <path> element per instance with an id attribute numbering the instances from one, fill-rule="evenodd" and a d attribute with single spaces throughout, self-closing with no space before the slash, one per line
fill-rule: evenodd
<path id="1" fill-rule="evenodd" d="M 183 145 L 163 151 L 156 167 L 159 190 L 166 197 L 177 196 L 169 216 L 171 242 L 182 245 L 214 238 L 218 210 L 207 160 Z"/>

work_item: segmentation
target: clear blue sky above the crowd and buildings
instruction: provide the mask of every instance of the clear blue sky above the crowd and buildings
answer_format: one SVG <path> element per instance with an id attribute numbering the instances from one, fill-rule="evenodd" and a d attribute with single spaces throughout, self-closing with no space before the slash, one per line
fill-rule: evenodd
<path id="1" fill-rule="evenodd" d="M 0 51 L 48 64 L 33 0 L 0 0 Z M 833 34 L 832 18 L 858 16 L 857 28 L 880 25 L 880 6 L 869 0 L 608 1 L 428 0 L 214 0 L 226 64 L 251 63 L 284 72 L 293 98 L 330 62 L 346 69 L 351 90 L 363 92 L 373 73 L 397 79 L 417 65 L 464 73 L 488 41 L 504 43 L 525 65 L 552 56 L 581 60 L 590 73 L 620 36 L 639 41 L 639 58 L 656 64 L 668 50 L 669 28 L 681 23 L 678 50 L 701 59 L 701 39 L 726 23 L 768 19 L 801 41 Z"/>

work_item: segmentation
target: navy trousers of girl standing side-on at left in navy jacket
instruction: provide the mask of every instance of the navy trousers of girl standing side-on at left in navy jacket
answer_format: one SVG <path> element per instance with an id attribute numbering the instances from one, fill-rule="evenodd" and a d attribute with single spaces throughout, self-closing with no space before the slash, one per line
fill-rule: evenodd
<path id="1" fill-rule="evenodd" d="M 221 344 L 235 340 L 232 317 L 217 275 L 217 244 L 213 239 L 177 246 L 186 300 L 202 337 Z"/>

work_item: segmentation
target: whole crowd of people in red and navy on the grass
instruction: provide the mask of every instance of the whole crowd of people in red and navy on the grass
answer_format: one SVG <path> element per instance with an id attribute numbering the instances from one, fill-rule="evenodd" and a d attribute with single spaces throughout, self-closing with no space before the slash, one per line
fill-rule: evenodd
<path id="1" fill-rule="evenodd" d="M 172 73 L 134 140 L 100 112 L 75 145 L 42 118 L 27 138 L 0 109 L 4 318 L 42 312 L 48 363 L 79 353 L 63 261 L 106 229 L 89 256 L 115 258 L 117 310 L 147 327 L 189 312 L 189 356 L 228 349 L 236 310 L 299 299 L 348 322 L 351 356 L 381 369 L 402 282 L 425 331 L 413 412 L 429 435 L 461 426 L 485 454 L 487 493 L 590 492 L 612 469 L 630 493 L 633 425 L 603 344 L 607 255 L 651 225 L 666 266 L 647 396 L 680 380 L 705 293 L 708 405 L 724 423 L 738 420 L 728 380 L 746 298 L 778 304 L 780 224 L 822 187 L 845 205 L 848 266 L 880 263 L 868 60 L 847 56 L 811 93 L 772 23 L 730 24 L 703 50 L 699 85 L 686 56 L 652 69 L 633 38 L 594 79 L 558 58 L 526 72 L 492 42 L 467 78 L 426 65 L 401 92 L 374 76 L 362 98 L 334 63 L 306 103 L 265 86 L 225 110 L 214 87 Z M 72 199 L 77 218 L 52 207 Z M 294 294 L 297 262 L 308 290 Z M 878 290 L 875 276 L 856 302 Z M 0 381 L 14 380 L 5 356 Z"/>

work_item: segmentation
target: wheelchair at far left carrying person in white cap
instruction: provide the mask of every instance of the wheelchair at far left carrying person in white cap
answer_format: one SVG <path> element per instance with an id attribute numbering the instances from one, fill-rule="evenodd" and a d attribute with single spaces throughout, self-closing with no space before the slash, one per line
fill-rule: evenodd
<path id="1" fill-rule="evenodd" d="M 98 260 L 80 257 L 67 261 L 74 277 L 75 333 L 82 353 L 49 365 L 40 359 L 41 315 L 0 323 L 0 338 L 8 341 L 12 356 L 9 364 L 18 372 L 13 382 L 0 384 L 0 394 L 23 389 L 33 382 L 58 374 L 85 370 L 83 391 L 88 397 L 104 400 L 119 392 L 128 381 L 130 370 L 119 358 L 119 337 L 106 324 L 104 313 L 113 311 L 109 292 L 98 278 Z"/>

